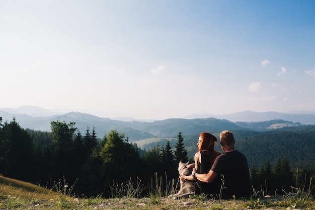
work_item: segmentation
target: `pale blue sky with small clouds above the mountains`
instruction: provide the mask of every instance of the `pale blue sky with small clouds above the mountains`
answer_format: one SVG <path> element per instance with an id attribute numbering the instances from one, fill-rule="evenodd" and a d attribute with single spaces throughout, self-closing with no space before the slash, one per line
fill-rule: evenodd
<path id="1" fill-rule="evenodd" d="M 315 113 L 315 1 L 0 0 L 0 108 Z"/>

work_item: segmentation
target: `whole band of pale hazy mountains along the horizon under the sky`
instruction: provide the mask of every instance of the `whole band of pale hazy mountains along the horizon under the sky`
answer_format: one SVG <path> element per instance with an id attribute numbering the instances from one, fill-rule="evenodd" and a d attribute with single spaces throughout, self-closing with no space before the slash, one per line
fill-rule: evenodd
<path id="1" fill-rule="evenodd" d="M 26 114 L 27 113 L 27 114 Z M 315 124 L 313 114 L 285 114 L 277 112 L 257 113 L 252 111 L 238 112 L 215 117 L 199 117 L 193 119 L 165 119 L 151 122 L 138 120 L 122 121 L 103 118 L 80 112 L 58 114 L 40 107 L 24 106 L 18 109 L 0 109 L 3 121 L 11 121 L 13 117 L 23 128 L 49 131 L 51 121 L 75 122 L 82 133 L 95 128 L 97 136 L 102 138 L 110 129 L 125 133 L 130 142 L 151 137 L 176 137 L 181 131 L 183 135 L 203 131 L 229 130 L 269 130 L 281 127 Z M 243 119 L 243 120 L 242 120 Z"/>

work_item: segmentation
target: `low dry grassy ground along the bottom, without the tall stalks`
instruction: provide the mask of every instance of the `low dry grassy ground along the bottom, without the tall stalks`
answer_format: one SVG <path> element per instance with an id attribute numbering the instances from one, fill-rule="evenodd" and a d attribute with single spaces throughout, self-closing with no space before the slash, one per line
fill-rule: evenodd
<path id="1" fill-rule="evenodd" d="M 286 209 L 290 206 L 283 196 L 255 198 L 252 200 L 215 200 L 204 196 L 190 196 L 173 200 L 166 197 L 145 198 L 75 198 L 28 182 L 0 176 L 0 209 Z M 296 208 L 299 208 L 296 206 Z M 294 208 L 292 208 L 294 209 Z M 303 210 L 315 209 L 314 201 L 307 201 Z"/>

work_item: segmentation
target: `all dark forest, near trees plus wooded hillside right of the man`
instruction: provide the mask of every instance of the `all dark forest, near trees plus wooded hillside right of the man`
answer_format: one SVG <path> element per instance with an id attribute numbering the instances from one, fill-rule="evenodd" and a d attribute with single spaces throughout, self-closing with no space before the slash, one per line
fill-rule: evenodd
<path id="1" fill-rule="evenodd" d="M 305 135 L 300 138 L 301 131 L 232 132 L 240 151 L 248 157 L 257 191 L 281 194 L 290 191 L 296 180 L 307 182 L 315 176 L 313 130 L 305 128 L 307 139 Z M 152 183 L 154 176 L 178 180 L 178 162 L 193 160 L 196 151 L 188 153 L 186 147 L 194 147 L 198 135 L 183 136 L 178 131 L 175 142 L 141 150 L 126 134 L 114 129 L 99 138 L 95 128 L 87 127 L 81 133 L 75 122 L 51 121 L 51 132 L 46 132 L 22 128 L 15 118 L 2 122 L 0 117 L 0 174 L 48 188 L 64 180 L 73 185 L 78 196 L 110 197 L 117 183 Z M 286 154 L 291 140 L 296 141 L 297 152 Z M 262 142 L 260 148 L 251 144 L 253 141 Z"/>

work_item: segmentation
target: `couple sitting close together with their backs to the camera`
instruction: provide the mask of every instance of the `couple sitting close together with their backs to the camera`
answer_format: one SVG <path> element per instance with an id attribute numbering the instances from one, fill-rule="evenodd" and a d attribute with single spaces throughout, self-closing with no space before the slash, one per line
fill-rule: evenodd
<path id="1" fill-rule="evenodd" d="M 195 180 L 202 193 L 208 196 L 218 196 L 222 186 L 222 198 L 240 198 L 253 193 L 247 158 L 234 149 L 234 136 L 228 130 L 220 133 L 220 144 L 223 154 L 214 150 L 217 139 L 208 132 L 200 134 L 195 163 L 187 168 L 193 168 L 190 176 L 181 175 L 181 181 Z M 221 180 L 221 175 L 222 180 Z"/>

